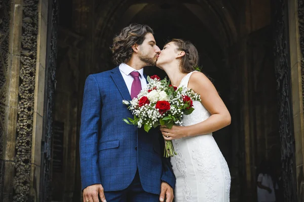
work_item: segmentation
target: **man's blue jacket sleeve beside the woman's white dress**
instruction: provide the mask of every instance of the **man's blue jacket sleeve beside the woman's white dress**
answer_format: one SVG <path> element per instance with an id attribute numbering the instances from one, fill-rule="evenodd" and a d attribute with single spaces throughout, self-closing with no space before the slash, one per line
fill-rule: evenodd
<path id="1" fill-rule="evenodd" d="M 160 133 L 161 134 L 161 133 Z M 162 135 L 160 135 L 160 142 L 162 151 L 165 149 L 165 140 Z M 175 175 L 172 170 L 172 165 L 170 162 L 170 158 L 162 157 L 162 166 L 163 166 L 163 173 L 161 180 L 167 182 L 174 190 L 175 188 Z"/>

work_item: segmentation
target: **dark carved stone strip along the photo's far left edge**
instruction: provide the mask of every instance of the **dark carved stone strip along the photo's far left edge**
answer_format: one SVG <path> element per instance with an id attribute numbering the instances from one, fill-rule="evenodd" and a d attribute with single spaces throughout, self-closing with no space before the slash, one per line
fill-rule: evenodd
<path id="1" fill-rule="evenodd" d="M 3 141 L 9 55 L 10 2 L 10 0 L 0 0 L 0 201 L 2 201 L 4 175 Z"/>

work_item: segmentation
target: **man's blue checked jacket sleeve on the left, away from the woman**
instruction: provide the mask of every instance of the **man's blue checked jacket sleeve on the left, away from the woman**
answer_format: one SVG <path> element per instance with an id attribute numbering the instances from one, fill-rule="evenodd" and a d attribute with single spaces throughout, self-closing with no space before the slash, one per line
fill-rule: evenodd
<path id="1" fill-rule="evenodd" d="M 101 184 L 98 168 L 98 128 L 101 124 L 101 96 L 94 75 L 89 75 L 84 88 L 80 128 L 80 168 L 82 189 Z"/>

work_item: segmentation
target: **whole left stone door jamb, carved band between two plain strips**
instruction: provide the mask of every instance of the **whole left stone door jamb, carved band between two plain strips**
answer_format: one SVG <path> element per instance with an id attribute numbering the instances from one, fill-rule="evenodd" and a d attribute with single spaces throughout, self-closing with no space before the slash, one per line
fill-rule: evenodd
<path id="1" fill-rule="evenodd" d="M 3 5 L 7 2 L 0 1 Z M 39 193 L 47 5 L 48 0 L 12 0 L 10 5 L 2 120 L 3 201 L 35 201 Z"/>

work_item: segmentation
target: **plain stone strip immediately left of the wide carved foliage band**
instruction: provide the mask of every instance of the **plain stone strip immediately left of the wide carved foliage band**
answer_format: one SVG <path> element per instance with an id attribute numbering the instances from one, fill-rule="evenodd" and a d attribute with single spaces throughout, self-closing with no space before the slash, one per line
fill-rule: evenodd
<path id="1" fill-rule="evenodd" d="M 8 3 L 8 1 L 6 1 Z M 17 135 L 18 91 L 21 63 L 21 34 L 22 34 L 22 1 L 12 1 L 10 10 L 10 32 L 7 80 L 6 106 L 4 117 L 4 190 L 3 201 L 13 201 L 13 181 L 15 174 L 15 143 Z"/>

